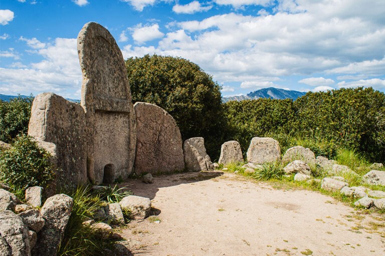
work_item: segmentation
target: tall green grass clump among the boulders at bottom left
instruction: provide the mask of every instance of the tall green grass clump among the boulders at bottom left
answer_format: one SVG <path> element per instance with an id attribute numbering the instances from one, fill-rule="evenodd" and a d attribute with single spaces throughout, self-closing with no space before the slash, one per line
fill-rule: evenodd
<path id="1" fill-rule="evenodd" d="M 105 255 L 105 249 L 112 248 L 115 241 L 101 237 L 96 229 L 82 222 L 93 219 L 106 202 L 92 195 L 88 186 L 79 186 L 69 195 L 74 205 L 58 255 Z"/>

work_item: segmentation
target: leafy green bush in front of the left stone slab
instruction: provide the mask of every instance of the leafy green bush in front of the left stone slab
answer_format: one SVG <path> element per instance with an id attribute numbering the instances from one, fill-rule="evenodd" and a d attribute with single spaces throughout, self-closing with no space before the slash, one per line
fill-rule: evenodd
<path id="1" fill-rule="evenodd" d="M 50 154 L 28 135 L 19 135 L 12 148 L 0 152 L 0 180 L 11 187 L 46 187 L 53 176 Z"/>

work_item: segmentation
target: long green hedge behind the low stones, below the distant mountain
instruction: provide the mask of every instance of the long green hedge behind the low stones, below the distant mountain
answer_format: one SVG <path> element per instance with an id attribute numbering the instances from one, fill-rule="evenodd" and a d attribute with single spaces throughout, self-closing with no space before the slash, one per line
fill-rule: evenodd
<path id="1" fill-rule="evenodd" d="M 224 109 L 227 138 L 238 140 L 244 153 L 252 137 L 268 136 L 279 141 L 282 153 L 302 145 L 333 158 L 341 147 L 385 159 L 385 95 L 371 87 L 308 92 L 294 102 L 229 101 Z"/>

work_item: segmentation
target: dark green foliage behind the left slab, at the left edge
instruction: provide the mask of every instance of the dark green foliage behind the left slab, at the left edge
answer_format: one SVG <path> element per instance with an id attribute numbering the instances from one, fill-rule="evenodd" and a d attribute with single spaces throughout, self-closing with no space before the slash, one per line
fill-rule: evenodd
<path id="1" fill-rule="evenodd" d="M 33 99 L 18 96 L 0 100 L 0 140 L 10 143 L 18 134 L 27 133 Z"/>

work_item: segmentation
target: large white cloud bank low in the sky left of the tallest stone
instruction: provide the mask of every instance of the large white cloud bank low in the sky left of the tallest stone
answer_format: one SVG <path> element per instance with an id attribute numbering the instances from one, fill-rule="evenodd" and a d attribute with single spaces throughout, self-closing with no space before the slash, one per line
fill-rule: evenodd
<path id="1" fill-rule="evenodd" d="M 64 97 L 80 98 L 82 73 L 76 38 L 56 38 L 35 51 L 43 59 L 28 68 L 15 62 L 0 68 L 0 93 L 37 95 L 52 91 Z"/>

